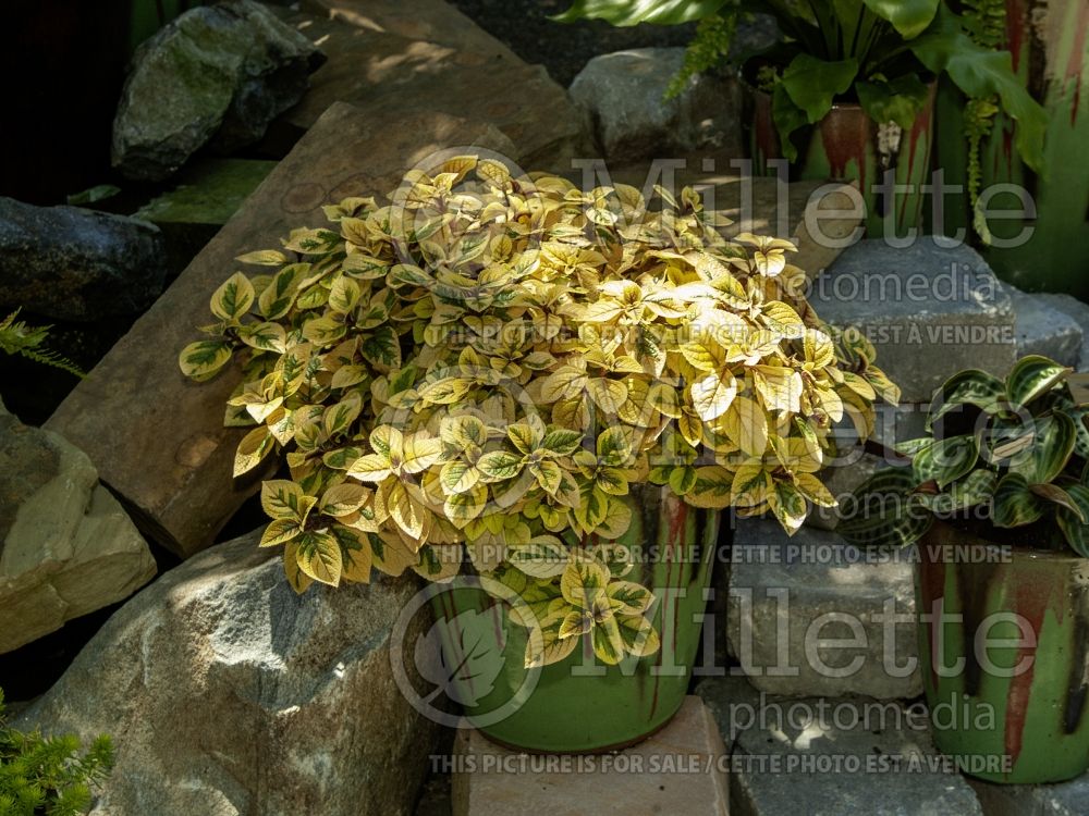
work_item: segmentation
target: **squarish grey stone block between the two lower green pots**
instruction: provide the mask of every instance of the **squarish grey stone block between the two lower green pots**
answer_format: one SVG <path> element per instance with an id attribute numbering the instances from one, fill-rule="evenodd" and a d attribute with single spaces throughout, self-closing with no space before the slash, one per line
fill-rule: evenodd
<path id="1" fill-rule="evenodd" d="M 769 694 L 909 698 L 922 691 L 913 551 L 859 549 L 772 519 L 737 522 L 730 653 Z"/>

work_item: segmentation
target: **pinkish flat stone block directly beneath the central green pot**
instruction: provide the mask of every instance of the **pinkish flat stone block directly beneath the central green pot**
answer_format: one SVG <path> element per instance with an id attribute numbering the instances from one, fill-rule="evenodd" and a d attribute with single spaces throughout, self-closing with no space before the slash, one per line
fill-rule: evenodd
<path id="1" fill-rule="evenodd" d="M 661 731 L 613 754 L 530 756 L 464 729 L 454 744 L 453 816 L 726 816 L 724 756 L 719 729 L 697 696 Z"/>

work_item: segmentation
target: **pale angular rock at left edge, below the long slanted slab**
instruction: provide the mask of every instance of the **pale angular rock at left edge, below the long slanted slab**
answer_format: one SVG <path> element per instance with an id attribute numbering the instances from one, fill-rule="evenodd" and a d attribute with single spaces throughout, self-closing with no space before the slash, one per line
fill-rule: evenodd
<path id="1" fill-rule="evenodd" d="M 0 406 L 0 653 L 129 597 L 155 571 L 87 455 Z"/>

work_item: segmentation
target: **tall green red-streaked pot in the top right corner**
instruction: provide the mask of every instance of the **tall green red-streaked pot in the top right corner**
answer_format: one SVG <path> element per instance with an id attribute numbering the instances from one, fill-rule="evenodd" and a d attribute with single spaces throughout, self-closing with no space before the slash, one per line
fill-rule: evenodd
<path id="1" fill-rule="evenodd" d="M 1026 218 L 1020 197 L 998 191 L 988 202 L 993 244 L 982 247 L 988 263 L 1006 281 L 1037 292 L 1066 292 L 1089 299 L 1089 3 L 1026 3 L 1006 0 L 1006 39 L 1013 69 L 1048 114 L 1043 168 L 1037 175 L 1014 149 L 1015 123 L 999 113 L 980 156 L 981 188 L 1024 187 L 1032 199 Z M 968 146 L 965 97 L 947 81 L 938 99 L 938 163 L 946 184 L 964 184 Z M 955 235 L 970 230 L 966 195 L 946 197 L 943 223 Z M 1031 228 L 1031 233 L 1026 232 Z"/>

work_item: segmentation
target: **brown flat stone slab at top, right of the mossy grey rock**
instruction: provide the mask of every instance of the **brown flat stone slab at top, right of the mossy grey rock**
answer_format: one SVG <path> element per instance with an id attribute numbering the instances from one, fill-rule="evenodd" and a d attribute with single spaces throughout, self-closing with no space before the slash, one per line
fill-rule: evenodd
<path id="1" fill-rule="evenodd" d="M 509 158 L 526 170 L 562 170 L 572 157 L 588 154 L 582 116 L 542 66 L 527 65 L 452 7 L 402 5 L 402 15 L 415 9 L 419 25 L 390 14 L 389 4 L 371 9 L 369 0 L 338 0 L 327 4 L 326 15 L 297 11 L 285 17 L 329 59 L 303 100 L 281 118 L 282 128 L 306 131 L 342 101 L 379 121 L 437 111 L 492 124 L 515 146 Z M 393 29 L 382 25 L 391 16 Z M 427 38 L 445 26 L 475 30 Z"/>

